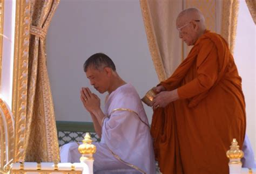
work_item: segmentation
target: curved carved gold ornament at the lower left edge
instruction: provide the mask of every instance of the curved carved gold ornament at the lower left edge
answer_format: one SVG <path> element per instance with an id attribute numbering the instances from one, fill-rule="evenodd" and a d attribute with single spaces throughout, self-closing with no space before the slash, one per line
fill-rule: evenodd
<path id="1" fill-rule="evenodd" d="M 9 171 L 14 158 L 14 120 L 5 102 L 0 99 L 1 170 Z"/>

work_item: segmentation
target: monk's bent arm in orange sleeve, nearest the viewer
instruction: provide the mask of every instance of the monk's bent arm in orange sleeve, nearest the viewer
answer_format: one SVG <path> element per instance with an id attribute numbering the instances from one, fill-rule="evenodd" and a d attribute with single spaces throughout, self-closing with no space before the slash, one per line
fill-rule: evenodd
<path id="1" fill-rule="evenodd" d="M 180 99 L 187 99 L 210 89 L 218 77 L 217 48 L 210 39 L 204 40 L 197 57 L 197 78 L 178 88 Z"/>

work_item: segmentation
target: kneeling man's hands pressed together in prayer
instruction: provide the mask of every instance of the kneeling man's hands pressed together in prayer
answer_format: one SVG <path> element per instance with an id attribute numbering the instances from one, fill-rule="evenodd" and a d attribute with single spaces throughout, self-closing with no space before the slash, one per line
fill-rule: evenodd
<path id="1" fill-rule="evenodd" d="M 86 87 L 81 89 L 80 99 L 88 112 L 94 113 L 97 110 L 100 110 L 100 99 L 96 94 L 91 93 L 89 88 Z"/>

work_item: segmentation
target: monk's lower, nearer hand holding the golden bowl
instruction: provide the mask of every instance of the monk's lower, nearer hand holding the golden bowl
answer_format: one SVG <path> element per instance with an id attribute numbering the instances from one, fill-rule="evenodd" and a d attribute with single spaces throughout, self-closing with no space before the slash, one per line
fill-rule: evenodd
<path id="1" fill-rule="evenodd" d="M 176 101 L 179 99 L 177 89 L 174 89 L 173 91 L 163 91 L 156 95 L 156 97 L 153 99 L 153 109 L 156 109 L 158 107 L 164 108 L 169 103 Z"/>

